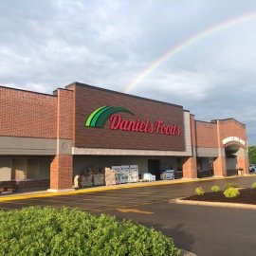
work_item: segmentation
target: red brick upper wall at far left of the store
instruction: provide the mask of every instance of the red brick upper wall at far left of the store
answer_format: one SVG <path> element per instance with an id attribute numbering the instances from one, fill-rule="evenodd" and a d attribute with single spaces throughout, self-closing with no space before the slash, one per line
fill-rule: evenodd
<path id="1" fill-rule="evenodd" d="M 57 136 L 56 97 L 0 87 L 0 101 L 0 136 Z"/>

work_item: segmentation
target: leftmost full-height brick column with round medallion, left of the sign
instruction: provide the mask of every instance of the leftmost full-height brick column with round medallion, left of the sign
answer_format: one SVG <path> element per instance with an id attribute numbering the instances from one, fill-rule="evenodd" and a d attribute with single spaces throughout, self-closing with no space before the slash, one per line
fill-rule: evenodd
<path id="1" fill-rule="evenodd" d="M 50 165 L 50 192 L 72 190 L 72 121 L 73 92 L 57 90 L 57 154 Z"/>

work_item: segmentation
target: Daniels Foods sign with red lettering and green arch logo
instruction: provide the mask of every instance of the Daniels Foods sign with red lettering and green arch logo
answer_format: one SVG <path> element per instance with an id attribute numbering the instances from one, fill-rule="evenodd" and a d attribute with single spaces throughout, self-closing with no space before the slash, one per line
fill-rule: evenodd
<path id="1" fill-rule="evenodd" d="M 165 123 L 164 120 L 161 119 L 123 119 L 121 115 L 118 114 L 120 112 L 126 112 L 134 116 L 134 113 L 123 107 L 102 106 L 89 115 L 85 121 L 85 126 L 102 128 L 105 121 L 109 119 L 109 128 L 111 130 L 180 136 L 181 129 L 176 123 Z"/>

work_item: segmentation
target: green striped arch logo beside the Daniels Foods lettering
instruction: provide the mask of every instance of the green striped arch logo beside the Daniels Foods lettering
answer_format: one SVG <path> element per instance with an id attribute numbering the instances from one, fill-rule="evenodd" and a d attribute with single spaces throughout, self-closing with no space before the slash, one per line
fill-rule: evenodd
<path id="1" fill-rule="evenodd" d="M 124 107 L 101 106 L 89 115 L 85 121 L 85 126 L 102 128 L 106 119 L 117 112 L 127 112 L 134 115 L 130 110 Z"/>

